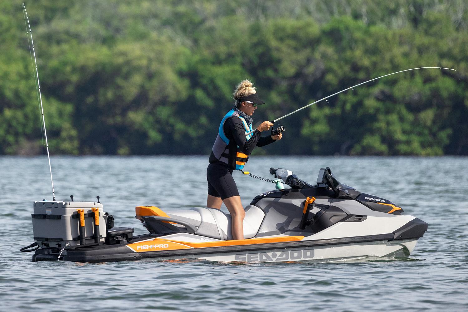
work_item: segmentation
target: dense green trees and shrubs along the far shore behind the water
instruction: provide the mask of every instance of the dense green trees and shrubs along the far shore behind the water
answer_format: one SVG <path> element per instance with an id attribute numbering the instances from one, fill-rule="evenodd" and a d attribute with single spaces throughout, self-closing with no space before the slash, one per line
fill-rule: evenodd
<path id="1" fill-rule="evenodd" d="M 468 155 L 463 0 L 0 1 L 0 155 L 207 155 L 234 86 L 255 123 L 373 77 L 280 122 L 256 154 Z M 278 125 L 275 125 L 278 126 Z"/>

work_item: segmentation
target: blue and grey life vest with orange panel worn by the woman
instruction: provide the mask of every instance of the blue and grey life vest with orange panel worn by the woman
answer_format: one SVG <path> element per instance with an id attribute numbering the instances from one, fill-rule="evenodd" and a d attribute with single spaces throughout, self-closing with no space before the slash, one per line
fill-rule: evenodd
<path id="1" fill-rule="evenodd" d="M 231 109 L 230 111 L 227 112 L 227 114 L 223 117 L 221 120 L 221 123 L 219 124 L 219 129 L 218 129 L 218 136 L 216 137 L 216 140 L 214 141 L 214 145 L 212 148 L 212 152 L 214 156 L 216 157 L 217 160 L 224 162 L 229 165 L 229 139 L 226 137 L 226 134 L 224 133 L 224 123 L 226 122 L 226 119 L 231 117 L 231 116 L 237 116 L 241 118 L 241 121 L 244 125 L 245 132 L 250 132 L 252 131 L 252 125 L 249 125 L 247 121 L 239 115 L 238 112 L 236 112 L 234 109 Z M 250 133 L 248 136 L 246 136 L 246 139 L 249 140 L 252 138 L 253 133 Z M 241 152 L 241 149 L 239 146 L 237 146 L 236 150 L 236 162 L 235 162 L 235 169 L 240 170 L 244 167 L 245 163 L 249 160 L 249 156 Z"/>

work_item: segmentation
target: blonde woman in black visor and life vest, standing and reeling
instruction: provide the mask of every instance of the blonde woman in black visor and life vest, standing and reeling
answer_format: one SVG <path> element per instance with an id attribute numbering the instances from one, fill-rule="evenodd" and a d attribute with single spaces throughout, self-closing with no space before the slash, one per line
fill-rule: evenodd
<path id="1" fill-rule="evenodd" d="M 206 207 L 221 208 L 224 203 L 232 218 L 231 232 L 234 239 L 244 239 L 242 222 L 245 217 L 239 191 L 232 177 L 234 169 L 240 170 L 249 159 L 255 146 L 268 145 L 280 140 L 283 135 L 261 137 L 262 131 L 273 125 L 264 121 L 252 131 L 252 115 L 265 102 L 258 98 L 255 87 L 249 80 L 242 81 L 234 91 L 234 108 L 227 112 L 219 125 L 218 136 L 206 170 L 208 199 Z"/>

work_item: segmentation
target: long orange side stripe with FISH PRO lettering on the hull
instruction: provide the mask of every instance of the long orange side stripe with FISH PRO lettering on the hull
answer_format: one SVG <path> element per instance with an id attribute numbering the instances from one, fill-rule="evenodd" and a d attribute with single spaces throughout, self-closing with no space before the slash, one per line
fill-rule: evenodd
<path id="1" fill-rule="evenodd" d="M 176 241 L 172 239 L 153 239 L 139 243 L 128 244 L 137 252 L 159 251 L 172 249 L 187 249 L 187 248 L 202 248 L 202 247 L 225 247 L 237 245 L 252 245 L 252 244 L 268 244 L 287 241 L 298 241 L 304 239 L 304 236 L 282 236 L 282 237 L 266 237 L 254 239 L 238 239 L 238 240 L 218 240 L 203 243 L 192 243 L 185 241 Z M 138 247 L 142 246 L 142 247 Z"/>

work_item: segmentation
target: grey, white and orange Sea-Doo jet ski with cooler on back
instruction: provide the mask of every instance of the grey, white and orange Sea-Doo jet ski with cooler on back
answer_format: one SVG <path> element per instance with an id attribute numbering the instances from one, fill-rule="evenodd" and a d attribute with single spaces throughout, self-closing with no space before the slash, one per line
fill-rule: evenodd
<path id="1" fill-rule="evenodd" d="M 291 171 L 270 169 L 290 188 L 256 196 L 245 208 L 244 239 L 233 240 L 231 217 L 219 209 L 163 211 L 136 207 L 149 233 L 113 227 L 102 203 L 34 202 L 32 260 L 77 262 L 143 259 L 210 261 L 341 261 L 406 257 L 427 223 L 387 199 L 361 193 L 321 168 L 312 185 Z M 24 250 L 23 250 L 24 251 Z"/>

